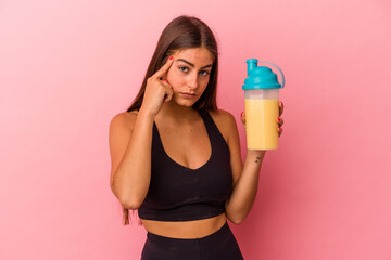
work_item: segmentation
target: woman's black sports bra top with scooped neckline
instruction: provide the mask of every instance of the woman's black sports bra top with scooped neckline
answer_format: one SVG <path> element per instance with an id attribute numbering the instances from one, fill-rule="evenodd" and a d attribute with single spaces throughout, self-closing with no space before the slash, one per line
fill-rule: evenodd
<path id="1" fill-rule="evenodd" d="M 229 147 L 211 115 L 201 114 L 212 154 L 198 169 L 174 161 L 164 151 L 153 123 L 151 183 L 138 209 L 140 219 L 189 221 L 207 219 L 225 212 L 232 191 Z"/>

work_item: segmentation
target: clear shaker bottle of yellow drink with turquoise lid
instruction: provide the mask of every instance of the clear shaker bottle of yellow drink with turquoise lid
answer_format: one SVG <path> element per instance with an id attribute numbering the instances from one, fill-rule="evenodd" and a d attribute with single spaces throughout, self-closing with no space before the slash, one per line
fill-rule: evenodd
<path id="1" fill-rule="evenodd" d="M 273 63 L 280 74 L 281 83 L 277 75 L 269 67 L 257 66 L 258 60 L 249 58 L 248 78 L 244 80 L 245 135 L 248 150 L 277 150 L 279 116 L 279 89 L 285 86 L 285 77 L 279 67 Z"/>

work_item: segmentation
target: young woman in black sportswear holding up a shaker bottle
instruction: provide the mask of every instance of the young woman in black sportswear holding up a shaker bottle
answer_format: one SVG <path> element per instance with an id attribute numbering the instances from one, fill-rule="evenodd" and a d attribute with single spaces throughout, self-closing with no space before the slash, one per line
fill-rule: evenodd
<path id="1" fill-rule="evenodd" d="M 239 224 L 251 210 L 265 151 L 248 151 L 243 166 L 236 120 L 216 106 L 217 72 L 211 29 L 179 16 L 134 103 L 111 121 L 111 187 L 125 224 L 138 209 L 148 231 L 142 260 L 243 259 L 227 219 Z"/>

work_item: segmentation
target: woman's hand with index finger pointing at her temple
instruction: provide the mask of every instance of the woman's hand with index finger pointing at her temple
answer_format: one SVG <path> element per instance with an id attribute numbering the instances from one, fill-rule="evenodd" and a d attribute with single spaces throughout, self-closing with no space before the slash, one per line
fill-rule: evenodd
<path id="1" fill-rule="evenodd" d="M 166 79 L 161 79 L 172 66 L 173 61 L 174 57 L 171 56 L 154 75 L 147 79 L 146 92 L 140 110 L 146 112 L 153 118 L 156 116 L 163 103 L 171 101 L 173 98 L 173 87 Z"/>

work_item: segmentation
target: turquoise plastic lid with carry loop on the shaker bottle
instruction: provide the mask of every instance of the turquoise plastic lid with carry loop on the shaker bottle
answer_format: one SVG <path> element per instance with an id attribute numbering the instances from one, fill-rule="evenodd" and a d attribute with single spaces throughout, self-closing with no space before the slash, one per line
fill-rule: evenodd
<path id="1" fill-rule="evenodd" d="M 281 83 L 278 82 L 277 75 L 273 73 L 269 67 L 257 66 L 258 60 L 257 58 L 249 58 L 247 60 L 248 63 L 248 77 L 244 79 L 244 84 L 242 87 L 243 90 L 249 89 L 281 89 L 285 86 L 285 77 L 282 70 L 277 67 L 277 65 L 268 62 L 261 62 L 260 63 L 267 63 L 280 73 L 281 76 Z"/>

